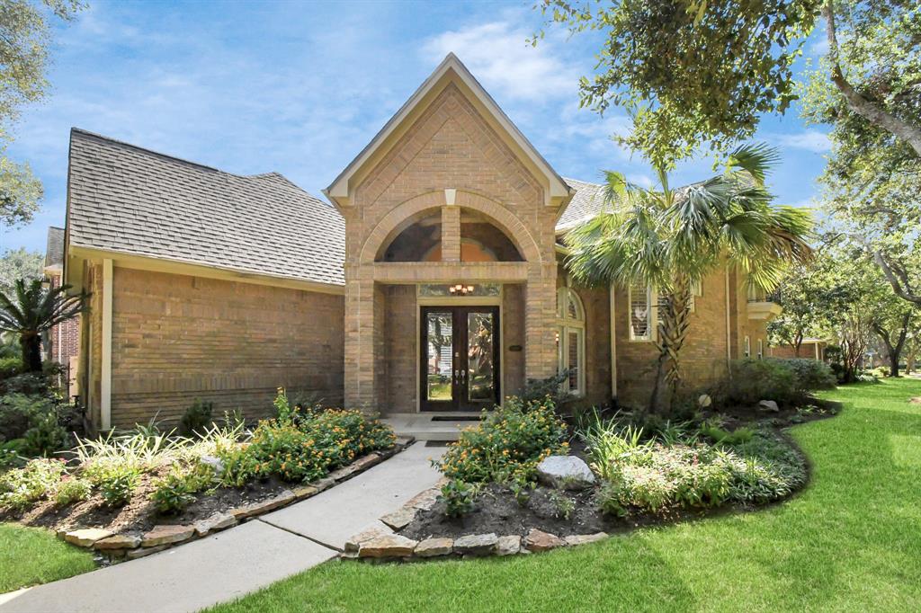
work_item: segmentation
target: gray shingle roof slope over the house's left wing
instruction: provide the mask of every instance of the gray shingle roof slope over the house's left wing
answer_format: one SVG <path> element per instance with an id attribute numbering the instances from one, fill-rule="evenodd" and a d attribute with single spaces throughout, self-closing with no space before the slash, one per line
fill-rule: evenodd
<path id="1" fill-rule="evenodd" d="M 71 131 L 70 244 L 343 284 L 342 215 L 278 173 L 239 176 Z"/>

